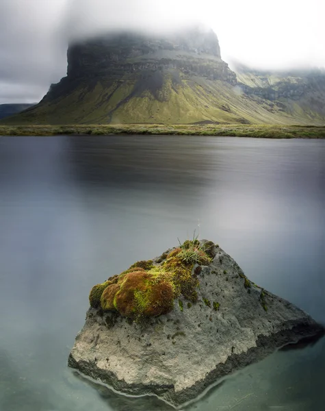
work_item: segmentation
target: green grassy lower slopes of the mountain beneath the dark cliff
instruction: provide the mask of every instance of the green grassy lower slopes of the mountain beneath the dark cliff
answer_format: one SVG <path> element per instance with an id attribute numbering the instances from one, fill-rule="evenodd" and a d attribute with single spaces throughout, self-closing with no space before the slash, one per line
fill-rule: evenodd
<path id="1" fill-rule="evenodd" d="M 230 84 L 183 75 L 178 84 L 165 72 L 156 92 L 137 89 L 138 79 L 92 79 L 2 124 L 189 124 L 197 122 L 323 125 L 325 116 L 287 101 L 287 112 L 272 101 L 249 97 Z"/>

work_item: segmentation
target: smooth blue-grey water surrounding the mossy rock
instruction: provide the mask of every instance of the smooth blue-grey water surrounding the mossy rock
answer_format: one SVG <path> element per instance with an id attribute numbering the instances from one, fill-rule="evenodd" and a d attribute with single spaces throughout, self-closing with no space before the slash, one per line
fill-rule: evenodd
<path id="1" fill-rule="evenodd" d="M 66 366 L 90 288 L 198 229 L 325 322 L 325 140 L 0 138 L 0 410 L 168 410 Z M 318 411 L 325 340 L 249 366 L 189 410 Z"/>

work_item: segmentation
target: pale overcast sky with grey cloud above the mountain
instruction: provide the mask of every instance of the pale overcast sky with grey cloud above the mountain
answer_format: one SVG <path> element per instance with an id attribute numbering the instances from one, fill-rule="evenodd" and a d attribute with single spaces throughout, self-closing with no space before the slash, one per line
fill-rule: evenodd
<path id="1" fill-rule="evenodd" d="M 120 27 L 201 21 L 226 62 L 325 67 L 324 16 L 324 0 L 0 0 L 0 103 L 39 101 L 66 75 L 69 40 Z"/>

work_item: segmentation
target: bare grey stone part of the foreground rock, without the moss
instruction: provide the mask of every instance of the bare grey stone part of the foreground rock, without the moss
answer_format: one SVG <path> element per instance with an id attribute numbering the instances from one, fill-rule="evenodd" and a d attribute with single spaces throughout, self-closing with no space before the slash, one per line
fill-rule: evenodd
<path id="1" fill-rule="evenodd" d="M 274 349 L 322 332 L 308 314 L 252 284 L 222 249 L 213 256 L 196 271 L 196 303 L 181 296 L 145 324 L 90 308 L 69 365 L 123 393 L 177 406 Z"/>

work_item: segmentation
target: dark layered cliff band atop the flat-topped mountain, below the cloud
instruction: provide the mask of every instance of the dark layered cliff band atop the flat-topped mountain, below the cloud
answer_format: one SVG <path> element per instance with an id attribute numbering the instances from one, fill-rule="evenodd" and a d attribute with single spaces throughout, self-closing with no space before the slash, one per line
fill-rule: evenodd
<path id="1" fill-rule="evenodd" d="M 68 49 L 68 77 L 96 77 L 141 71 L 179 70 L 235 84 L 235 74 L 222 62 L 216 34 L 200 29 L 168 36 L 110 34 Z"/>

